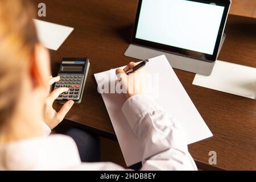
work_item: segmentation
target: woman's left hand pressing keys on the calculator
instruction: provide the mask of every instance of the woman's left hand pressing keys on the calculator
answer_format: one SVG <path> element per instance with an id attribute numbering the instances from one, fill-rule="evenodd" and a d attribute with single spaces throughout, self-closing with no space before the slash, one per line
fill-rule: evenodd
<path id="1" fill-rule="evenodd" d="M 60 77 L 51 77 L 48 85 L 49 90 L 51 88 L 51 85 L 55 82 L 60 81 Z M 53 90 L 52 93 L 49 94 L 49 96 L 46 99 L 46 105 L 44 107 L 44 119 L 46 125 L 49 126 L 49 128 L 52 130 L 54 129 L 61 121 L 63 121 L 65 115 L 68 113 L 68 111 L 71 109 L 71 107 L 74 104 L 74 101 L 67 101 L 60 109 L 60 111 L 57 113 L 56 110 L 53 109 L 52 105 L 53 102 L 59 97 L 60 94 L 63 92 L 68 92 L 69 88 L 59 88 Z"/>

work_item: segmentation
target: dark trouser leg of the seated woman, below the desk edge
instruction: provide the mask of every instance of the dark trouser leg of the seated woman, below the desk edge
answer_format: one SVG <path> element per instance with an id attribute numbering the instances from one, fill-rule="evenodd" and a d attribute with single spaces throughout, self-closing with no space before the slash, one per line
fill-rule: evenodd
<path id="1" fill-rule="evenodd" d="M 98 136 L 77 128 L 68 129 L 64 135 L 75 140 L 82 162 L 101 162 L 100 138 Z"/>

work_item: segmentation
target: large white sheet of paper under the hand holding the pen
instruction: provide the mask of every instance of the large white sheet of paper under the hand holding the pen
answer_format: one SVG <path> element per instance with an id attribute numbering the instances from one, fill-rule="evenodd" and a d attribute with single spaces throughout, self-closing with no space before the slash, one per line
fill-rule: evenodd
<path id="1" fill-rule="evenodd" d="M 194 143 L 205 138 L 212 137 L 212 133 L 181 85 L 166 56 L 158 56 L 150 59 L 145 67 L 148 73 L 159 75 L 159 93 L 151 93 L 155 101 L 181 123 L 187 137 L 187 143 Z M 109 84 L 115 82 L 115 69 L 94 75 L 97 84 L 102 77 L 110 77 Z M 158 96 L 158 97 L 157 97 Z M 137 137 L 131 130 L 129 123 L 121 111 L 126 101 L 124 94 L 102 94 L 106 109 L 117 135 L 119 145 L 127 166 L 131 166 L 142 160 L 142 150 Z"/>

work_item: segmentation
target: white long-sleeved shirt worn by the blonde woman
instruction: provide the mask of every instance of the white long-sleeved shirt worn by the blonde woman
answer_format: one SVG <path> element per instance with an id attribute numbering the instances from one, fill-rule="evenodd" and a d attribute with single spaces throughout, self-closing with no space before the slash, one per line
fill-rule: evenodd
<path id="1" fill-rule="evenodd" d="M 150 96 L 129 98 L 122 111 L 141 142 L 141 170 L 197 170 L 179 123 Z M 113 163 L 82 163 L 72 138 L 45 130 L 40 138 L 0 146 L 0 170 L 124 170 Z"/>

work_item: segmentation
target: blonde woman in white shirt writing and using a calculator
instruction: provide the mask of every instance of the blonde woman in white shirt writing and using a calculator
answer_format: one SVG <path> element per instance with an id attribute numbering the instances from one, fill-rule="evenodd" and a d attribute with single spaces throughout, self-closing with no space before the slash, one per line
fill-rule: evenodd
<path id="1" fill-rule="evenodd" d="M 53 101 L 68 88 L 48 94 L 49 86 L 59 78 L 50 77 L 49 53 L 36 36 L 34 9 L 29 2 L 0 0 L 0 170 L 123 169 L 113 163 L 82 163 L 82 151 L 79 155 L 72 138 L 49 135 L 73 101 L 65 103 L 59 112 L 52 108 Z M 124 85 L 124 80 L 130 79 L 124 72 L 134 65 L 117 70 Z M 131 77 L 140 79 L 141 73 Z M 152 98 L 126 87 L 122 111 L 141 142 L 142 170 L 196 170 L 178 123 Z M 89 135 L 73 138 L 81 137 Z"/>

